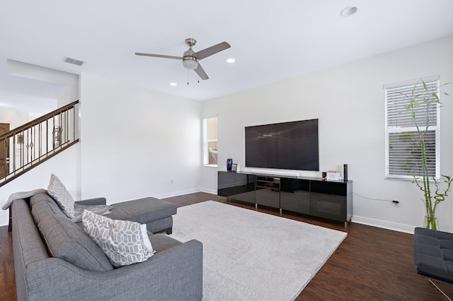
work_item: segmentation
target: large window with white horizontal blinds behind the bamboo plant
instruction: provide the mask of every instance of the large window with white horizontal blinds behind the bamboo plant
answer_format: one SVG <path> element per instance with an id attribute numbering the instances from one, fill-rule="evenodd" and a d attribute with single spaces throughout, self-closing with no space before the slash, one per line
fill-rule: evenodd
<path id="1" fill-rule="evenodd" d="M 439 162 L 439 112 L 437 103 L 428 105 L 423 97 L 413 110 L 411 95 L 439 95 L 439 80 L 421 81 L 405 85 L 386 86 L 386 177 L 412 179 L 423 176 L 421 140 L 418 135 L 413 114 L 420 131 L 425 131 L 425 150 L 429 177 L 440 177 Z M 415 86 L 415 89 L 414 89 Z"/>

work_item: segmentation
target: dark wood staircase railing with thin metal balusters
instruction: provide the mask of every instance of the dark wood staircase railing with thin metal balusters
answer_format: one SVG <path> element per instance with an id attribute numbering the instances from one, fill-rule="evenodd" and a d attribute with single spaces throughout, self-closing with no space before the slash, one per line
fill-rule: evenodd
<path id="1" fill-rule="evenodd" d="M 77 142 L 79 100 L 1 134 L 0 187 Z"/>

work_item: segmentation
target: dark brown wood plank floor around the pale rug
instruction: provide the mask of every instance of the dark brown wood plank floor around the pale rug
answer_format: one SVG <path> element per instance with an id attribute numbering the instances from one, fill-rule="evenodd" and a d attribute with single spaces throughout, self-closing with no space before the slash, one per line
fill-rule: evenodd
<path id="1" fill-rule="evenodd" d="M 200 192 L 166 200 L 180 207 L 218 198 Z M 255 210 L 254 206 L 229 204 Z M 280 216 L 277 211 L 258 211 Z M 297 300 L 447 300 L 425 277 L 415 273 L 413 235 L 356 223 L 345 229 L 343 223 L 286 213 L 282 216 L 348 232 Z M 16 300 L 13 247 L 6 226 L 0 227 L 0 265 L 0 300 Z M 453 297 L 453 285 L 435 283 Z"/>

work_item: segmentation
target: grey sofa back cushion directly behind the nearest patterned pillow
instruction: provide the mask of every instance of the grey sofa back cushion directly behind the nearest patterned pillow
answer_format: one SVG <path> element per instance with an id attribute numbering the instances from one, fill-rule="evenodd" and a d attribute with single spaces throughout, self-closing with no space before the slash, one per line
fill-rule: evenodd
<path id="1" fill-rule="evenodd" d="M 107 256 L 78 225 L 47 201 L 33 204 L 32 214 L 49 253 L 88 271 L 110 271 Z"/>

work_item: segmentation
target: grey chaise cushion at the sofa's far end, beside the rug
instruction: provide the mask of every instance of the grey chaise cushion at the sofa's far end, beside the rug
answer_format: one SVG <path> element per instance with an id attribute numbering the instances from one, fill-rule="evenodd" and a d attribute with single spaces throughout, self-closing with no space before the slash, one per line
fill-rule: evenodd
<path id="1" fill-rule="evenodd" d="M 147 197 L 113 203 L 111 211 L 112 213 L 108 217 L 113 220 L 132 220 L 143 224 L 173 216 L 176 214 L 177 207 L 169 201 Z"/>

